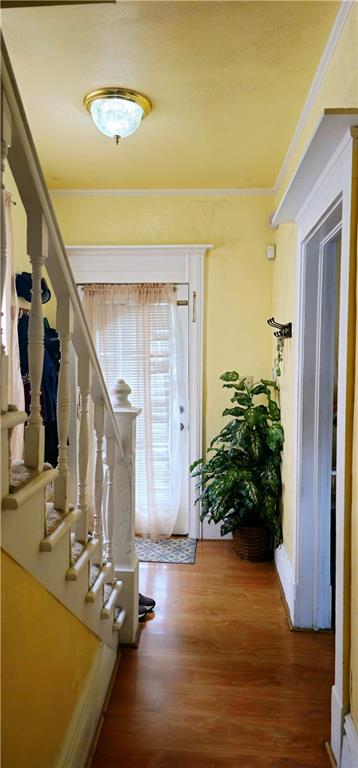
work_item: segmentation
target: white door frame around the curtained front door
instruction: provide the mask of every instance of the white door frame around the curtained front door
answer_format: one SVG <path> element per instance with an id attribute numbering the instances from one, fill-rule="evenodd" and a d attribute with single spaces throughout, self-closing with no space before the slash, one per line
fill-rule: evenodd
<path id="1" fill-rule="evenodd" d="M 68 245 L 76 283 L 189 285 L 189 461 L 203 453 L 204 263 L 212 245 Z M 189 468 L 188 468 L 189 472 Z M 189 479 L 189 536 L 201 537 L 195 479 Z"/>

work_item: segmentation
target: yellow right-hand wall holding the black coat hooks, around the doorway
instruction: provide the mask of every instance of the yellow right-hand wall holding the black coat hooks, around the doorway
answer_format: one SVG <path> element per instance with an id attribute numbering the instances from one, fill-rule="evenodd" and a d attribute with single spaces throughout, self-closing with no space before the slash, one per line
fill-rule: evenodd
<path id="1" fill-rule="evenodd" d="M 319 90 L 305 128 L 302 132 L 285 179 L 277 195 L 278 202 L 287 187 L 305 148 L 312 137 L 319 118 L 325 108 L 358 107 L 358 4 L 354 3 L 334 51 L 328 71 Z M 277 257 L 273 279 L 273 312 L 277 317 L 294 319 L 296 310 L 296 228 L 294 225 L 280 225 L 276 233 Z M 293 504 L 294 504 L 294 461 L 293 452 L 293 409 L 296 394 L 295 377 L 295 332 L 293 339 L 285 343 L 285 354 L 281 378 L 281 408 L 285 429 L 283 457 L 284 481 L 284 540 L 289 556 L 292 555 Z M 358 398 L 358 374 L 356 378 L 356 400 Z M 358 415 L 356 407 L 355 442 L 358 441 Z M 351 712 L 358 728 L 358 466 L 357 447 L 353 469 L 353 538 L 352 538 L 352 645 L 351 645 Z"/>

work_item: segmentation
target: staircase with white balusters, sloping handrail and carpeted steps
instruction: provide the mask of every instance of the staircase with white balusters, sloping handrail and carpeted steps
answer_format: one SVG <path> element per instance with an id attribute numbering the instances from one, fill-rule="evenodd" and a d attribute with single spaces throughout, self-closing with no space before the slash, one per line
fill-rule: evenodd
<path id="1" fill-rule="evenodd" d="M 128 413 L 128 407 L 113 411 L 6 47 L 1 42 L 1 168 L 3 172 L 5 162 L 9 163 L 26 210 L 28 271 L 32 272 L 29 415 L 9 404 L 11 350 L 1 346 L 2 547 L 116 650 L 118 641 L 135 640 L 138 623 L 138 562 L 134 552 L 136 413 L 135 409 L 133 414 Z M 3 276 L 9 267 L 3 211 L 2 232 Z M 41 279 L 45 263 L 57 300 L 61 350 L 56 469 L 44 465 L 40 400 L 44 355 Z M 3 288 L 2 280 L 1 296 Z M 24 425 L 24 460 L 13 462 L 11 433 L 19 424 Z M 93 509 L 90 498 L 94 499 Z"/>

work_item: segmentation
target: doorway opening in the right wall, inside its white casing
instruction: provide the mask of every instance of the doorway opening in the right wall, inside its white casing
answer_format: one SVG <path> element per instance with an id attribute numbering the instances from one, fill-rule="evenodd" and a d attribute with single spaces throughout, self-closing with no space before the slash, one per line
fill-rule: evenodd
<path id="1" fill-rule="evenodd" d="M 342 203 L 302 243 L 299 626 L 335 622 Z"/>

